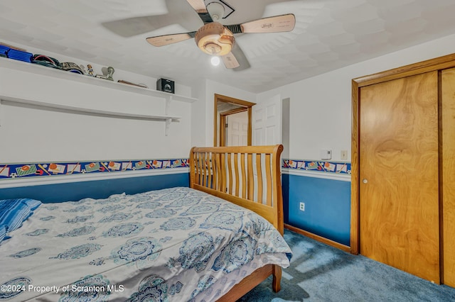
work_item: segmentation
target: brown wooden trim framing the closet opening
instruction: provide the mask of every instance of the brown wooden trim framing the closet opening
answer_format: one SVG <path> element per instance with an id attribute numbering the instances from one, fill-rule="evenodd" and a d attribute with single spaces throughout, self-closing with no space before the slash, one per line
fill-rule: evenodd
<path id="1" fill-rule="evenodd" d="M 360 116 L 360 88 L 382 82 L 392 81 L 403 77 L 432 72 L 440 69 L 455 67 L 455 54 L 437 57 L 431 60 L 406 65 L 394 69 L 378 72 L 352 80 L 352 123 L 351 123 L 351 177 L 350 177 L 350 252 L 360 252 L 360 177 L 359 177 L 359 116 Z M 440 121 L 439 121 L 440 122 Z M 440 123 L 439 123 L 440 127 Z M 440 130 L 440 129 L 439 129 Z M 439 151 L 441 152 L 441 151 Z M 441 155 L 439 154 L 439 157 Z M 441 172 L 440 172 L 441 173 Z M 440 201 L 441 202 L 441 201 Z"/>

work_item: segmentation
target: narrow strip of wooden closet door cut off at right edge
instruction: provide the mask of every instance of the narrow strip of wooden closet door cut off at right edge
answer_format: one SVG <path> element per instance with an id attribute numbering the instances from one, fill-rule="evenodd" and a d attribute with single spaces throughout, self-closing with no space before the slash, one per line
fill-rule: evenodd
<path id="1" fill-rule="evenodd" d="M 455 68 L 441 71 L 441 94 L 443 281 L 455 287 Z"/>

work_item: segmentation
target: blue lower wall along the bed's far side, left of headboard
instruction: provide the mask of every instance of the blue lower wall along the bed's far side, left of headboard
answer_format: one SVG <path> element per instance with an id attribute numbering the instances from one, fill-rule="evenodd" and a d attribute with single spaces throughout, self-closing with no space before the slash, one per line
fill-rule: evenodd
<path id="1" fill-rule="evenodd" d="M 78 201 L 82 198 L 107 198 L 112 194 L 140 192 L 189 186 L 189 173 L 163 174 L 146 177 L 78 181 L 64 184 L 21 186 L 0 190 L 0 199 L 33 198 L 43 203 Z"/>

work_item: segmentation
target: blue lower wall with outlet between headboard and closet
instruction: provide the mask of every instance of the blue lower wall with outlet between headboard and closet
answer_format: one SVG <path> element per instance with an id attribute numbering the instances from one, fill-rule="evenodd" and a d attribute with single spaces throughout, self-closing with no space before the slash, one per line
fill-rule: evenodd
<path id="1" fill-rule="evenodd" d="M 282 174 L 282 186 L 284 223 L 350 245 L 350 181 Z"/>

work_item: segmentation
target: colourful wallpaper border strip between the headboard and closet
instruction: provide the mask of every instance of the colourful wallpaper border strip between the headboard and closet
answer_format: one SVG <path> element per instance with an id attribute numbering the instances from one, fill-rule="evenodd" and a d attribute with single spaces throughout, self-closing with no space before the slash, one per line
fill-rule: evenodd
<path id="1" fill-rule="evenodd" d="M 319 160 L 282 160 L 282 168 L 350 174 L 350 162 L 324 162 Z"/>

